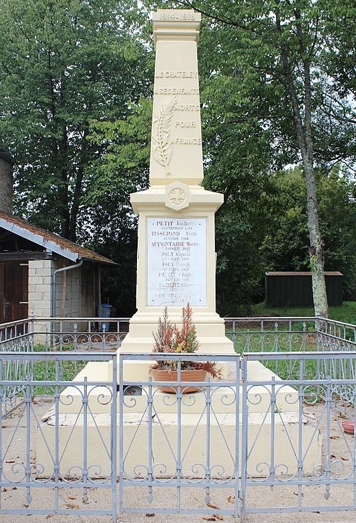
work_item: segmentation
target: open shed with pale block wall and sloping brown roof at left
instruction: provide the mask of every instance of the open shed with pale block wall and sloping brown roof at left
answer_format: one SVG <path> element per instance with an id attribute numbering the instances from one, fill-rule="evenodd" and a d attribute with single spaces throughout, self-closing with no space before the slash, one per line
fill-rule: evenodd
<path id="1" fill-rule="evenodd" d="M 0 211 L 0 323 L 36 317 L 93 317 L 100 267 L 116 263 Z"/>

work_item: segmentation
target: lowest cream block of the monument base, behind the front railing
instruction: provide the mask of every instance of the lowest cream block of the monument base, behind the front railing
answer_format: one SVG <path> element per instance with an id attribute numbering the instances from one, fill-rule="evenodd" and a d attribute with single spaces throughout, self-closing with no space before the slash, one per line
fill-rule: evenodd
<path id="1" fill-rule="evenodd" d="M 240 426 L 241 426 L 240 418 Z M 83 415 L 60 414 L 59 416 L 59 455 L 60 476 L 80 477 L 83 468 Z M 145 470 L 148 460 L 148 427 L 147 418 L 141 414 L 124 414 L 124 475 L 140 478 L 138 470 Z M 288 431 L 286 431 L 288 427 Z M 253 478 L 266 477 L 269 472 L 270 442 L 273 431 L 275 444 L 275 463 L 280 465 L 282 476 L 286 470 L 290 474 L 298 468 L 296 453 L 298 448 L 299 417 L 296 413 L 282 413 L 273 423 L 264 419 L 262 413 L 252 413 L 248 416 L 248 456 L 247 474 Z M 120 437 L 119 421 L 117 437 Z M 306 416 L 302 416 L 302 433 L 305 442 L 314 436 L 315 426 L 311 425 Z M 209 454 L 209 469 L 211 476 L 218 479 L 232 478 L 236 475 L 234 469 L 234 453 L 236 448 L 236 421 L 234 414 L 216 414 L 211 419 L 209 427 L 200 423 L 200 414 L 182 414 L 181 416 L 181 455 L 182 475 L 187 478 L 202 478 L 207 467 L 207 451 L 202 442 L 211 441 Z M 43 465 L 40 477 L 51 477 L 54 474 L 53 458 L 55 441 L 54 416 L 50 416 L 41 426 L 41 438 L 37 441 L 37 458 Z M 89 476 L 92 478 L 107 478 L 111 475 L 111 460 L 108 457 L 111 448 L 111 418 L 110 414 L 93 414 L 90 426 L 87 428 L 86 463 Z M 240 431 L 241 434 L 241 431 Z M 45 442 L 45 443 L 44 443 Z M 255 444 L 258 442 L 258 444 Z M 291 446 L 293 442 L 293 447 Z M 70 444 L 68 444 L 70 443 Z M 241 446 L 241 435 L 238 442 Z M 177 475 L 177 455 L 172 449 L 177 448 L 177 417 L 175 414 L 161 414 L 152 424 L 152 460 L 154 476 L 170 478 Z M 312 474 L 316 465 L 321 463 L 321 443 L 313 439 L 307 450 L 307 458 L 303 463 L 305 474 Z M 241 476 L 241 459 L 238 474 Z M 117 456 L 119 470 L 119 455 Z M 214 469 L 216 473 L 214 474 Z M 283 470 L 282 470 L 283 469 Z M 278 471 L 275 472 L 278 476 Z M 142 476 L 144 477 L 144 476 Z"/>

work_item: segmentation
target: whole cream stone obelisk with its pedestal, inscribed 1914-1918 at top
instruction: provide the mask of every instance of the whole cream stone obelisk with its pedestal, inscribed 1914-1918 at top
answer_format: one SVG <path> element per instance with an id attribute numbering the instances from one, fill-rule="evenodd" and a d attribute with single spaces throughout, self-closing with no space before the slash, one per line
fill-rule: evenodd
<path id="1" fill-rule="evenodd" d="M 150 187 L 131 194 L 138 221 L 137 313 L 124 352 L 152 350 L 152 331 L 168 306 L 172 322 L 193 306 L 200 351 L 231 352 L 216 313 L 214 214 L 223 195 L 203 179 L 197 40 L 200 14 L 153 13 L 156 49 Z"/>

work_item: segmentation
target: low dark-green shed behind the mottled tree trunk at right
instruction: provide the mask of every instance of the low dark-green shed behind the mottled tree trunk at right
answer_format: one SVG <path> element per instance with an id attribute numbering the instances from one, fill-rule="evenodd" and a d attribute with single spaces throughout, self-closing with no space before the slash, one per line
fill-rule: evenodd
<path id="1" fill-rule="evenodd" d="M 325 284 L 329 305 L 342 305 L 343 274 L 326 271 Z M 266 272 L 266 305 L 273 307 L 313 306 L 311 272 Z"/>

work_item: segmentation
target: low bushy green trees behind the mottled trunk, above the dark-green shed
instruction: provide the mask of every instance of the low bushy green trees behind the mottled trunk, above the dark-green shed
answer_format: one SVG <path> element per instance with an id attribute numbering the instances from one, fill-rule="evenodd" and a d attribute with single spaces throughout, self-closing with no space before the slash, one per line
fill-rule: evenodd
<path id="1" fill-rule="evenodd" d="M 309 270 L 306 188 L 299 167 L 270 176 L 273 192 L 266 196 L 261 242 L 264 270 Z M 343 273 L 346 299 L 355 299 L 356 203 L 355 181 L 346 169 L 316 171 L 321 233 L 325 241 L 325 270 Z"/>

